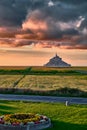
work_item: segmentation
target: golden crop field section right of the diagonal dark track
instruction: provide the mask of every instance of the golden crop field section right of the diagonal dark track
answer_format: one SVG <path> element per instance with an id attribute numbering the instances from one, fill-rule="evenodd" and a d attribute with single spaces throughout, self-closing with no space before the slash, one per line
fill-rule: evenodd
<path id="1" fill-rule="evenodd" d="M 87 75 L 72 75 L 72 76 L 36 76 L 26 75 L 17 87 L 30 88 L 33 90 L 49 91 L 59 88 L 77 88 L 82 91 L 87 91 Z"/>

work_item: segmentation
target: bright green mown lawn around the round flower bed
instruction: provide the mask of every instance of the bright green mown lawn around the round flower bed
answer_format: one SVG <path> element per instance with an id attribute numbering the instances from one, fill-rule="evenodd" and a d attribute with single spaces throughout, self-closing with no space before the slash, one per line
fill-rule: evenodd
<path id="1" fill-rule="evenodd" d="M 87 130 L 87 105 L 0 101 L 0 115 L 29 112 L 50 117 L 53 127 L 48 130 Z"/>

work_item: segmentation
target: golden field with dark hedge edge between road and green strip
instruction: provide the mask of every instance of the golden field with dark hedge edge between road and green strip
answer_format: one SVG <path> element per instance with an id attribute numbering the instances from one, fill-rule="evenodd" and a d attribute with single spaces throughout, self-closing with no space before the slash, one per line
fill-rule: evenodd
<path id="1" fill-rule="evenodd" d="M 87 75 L 0 75 L 0 93 L 87 97 Z"/>

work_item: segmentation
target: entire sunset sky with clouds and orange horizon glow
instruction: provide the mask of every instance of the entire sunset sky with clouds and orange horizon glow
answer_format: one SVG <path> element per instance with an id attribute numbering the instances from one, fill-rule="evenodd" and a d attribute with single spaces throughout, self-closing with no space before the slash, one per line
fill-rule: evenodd
<path id="1" fill-rule="evenodd" d="M 87 0 L 0 0 L 0 66 L 42 66 L 56 53 L 87 66 Z"/>

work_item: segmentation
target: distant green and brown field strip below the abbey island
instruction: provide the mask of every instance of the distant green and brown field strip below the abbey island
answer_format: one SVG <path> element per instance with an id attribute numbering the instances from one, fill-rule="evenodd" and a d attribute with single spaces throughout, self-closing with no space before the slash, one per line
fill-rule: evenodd
<path id="1" fill-rule="evenodd" d="M 72 75 L 81 74 L 81 72 L 87 72 L 87 67 L 64 67 L 64 68 L 47 68 L 47 67 L 1 67 L 0 74 L 15 75 Z M 86 73 L 87 74 L 87 73 Z"/>

